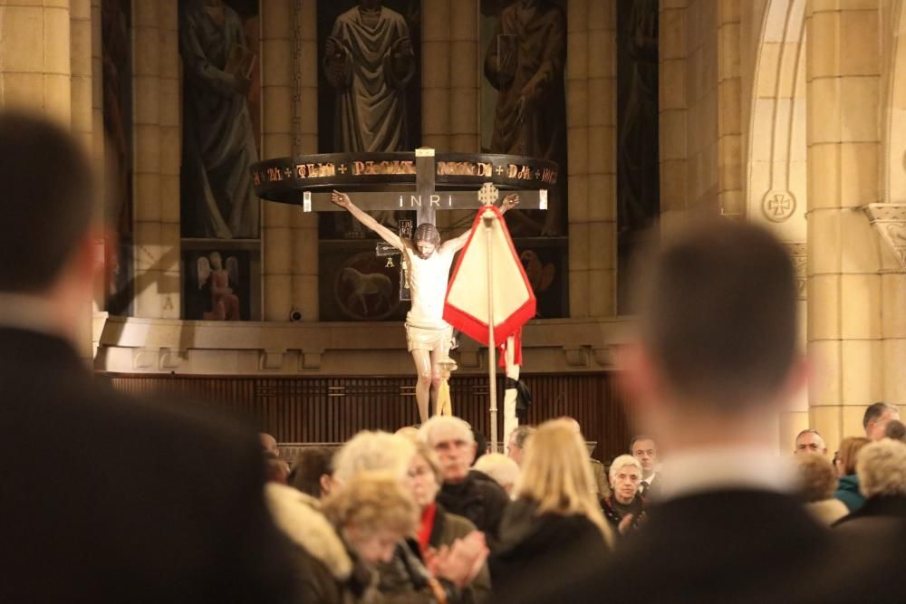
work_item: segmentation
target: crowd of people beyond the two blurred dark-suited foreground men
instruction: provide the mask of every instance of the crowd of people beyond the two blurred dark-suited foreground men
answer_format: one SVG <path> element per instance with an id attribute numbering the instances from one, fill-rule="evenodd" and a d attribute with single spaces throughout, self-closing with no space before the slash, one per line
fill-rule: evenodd
<path id="1" fill-rule="evenodd" d="M 866 411 L 878 439 L 844 438 L 835 464 L 816 430 L 795 437 L 795 496 L 821 526 L 856 533 L 906 521 L 906 443 L 885 436 L 899 420 L 883 409 L 890 417 L 877 427 L 877 407 Z M 651 436 L 611 460 L 602 497 L 572 418 L 521 426 L 509 444 L 510 455 L 477 457 L 466 422 L 435 417 L 395 435 L 362 432 L 339 450 L 304 447 L 267 501 L 294 543 L 305 601 L 532 601 L 532 576 L 567 590 L 646 530 L 659 509 L 652 484 L 670 484 Z"/>

